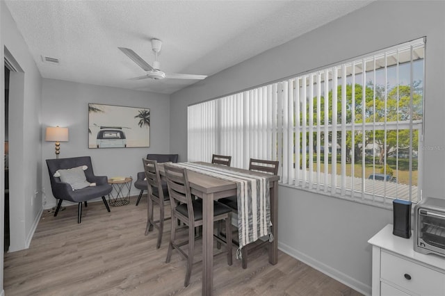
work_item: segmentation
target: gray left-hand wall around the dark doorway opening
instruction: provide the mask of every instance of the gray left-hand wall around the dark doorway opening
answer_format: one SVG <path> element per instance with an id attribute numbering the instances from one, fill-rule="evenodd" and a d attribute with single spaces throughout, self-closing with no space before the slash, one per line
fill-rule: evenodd
<path id="1" fill-rule="evenodd" d="M 41 76 L 8 8 L 3 1 L 0 5 L 0 46 L 2 48 L 0 58 L 3 63 L 3 47 L 6 47 L 23 70 L 22 73 L 10 73 L 9 250 L 12 252 L 29 247 L 42 211 L 41 196 L 34 194 L 42 183 L 42 154 L 40 149 Z M 3 129 L 0 133 L 3 137 Z M 1 200 L 1 203 L 3 203 L 3 200 Z M 1 224 L 3 225 L 3 220 Z M 3 241 L 3 236 L 1 236 L 1 240 Z"/>

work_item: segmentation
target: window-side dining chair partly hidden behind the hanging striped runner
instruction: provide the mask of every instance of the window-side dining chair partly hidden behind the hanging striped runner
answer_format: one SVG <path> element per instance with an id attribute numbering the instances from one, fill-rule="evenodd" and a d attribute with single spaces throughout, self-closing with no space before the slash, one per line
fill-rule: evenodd
<path id="1" fill-rule="evenodd" d="M 266 160 L 261 160 L 261 159 L 255 159 L 255 158 L 250 158 L 249 161 L 249 170 L 254 171 L 254 172 L 264 172 L 267 174 L 278 174 L 278 167 L 280 165 L 279 161 L 266 161 Z M 218 202 L 220 202 L 221 204 L 225 204 L 226 206 L 228 206 L 229 208 L 232 208 L 232 211 L 234 213 L 238 213 L 238 197 L 233 196 L 233 197 L 225 197 L 223 199 L 218 199 Z M 231 235 L 232 235 L 232 231 L 230 231 Z M 227 233 L 227 230 L 226 230 Z M 218 236 L 224 236 L 223 233 L 221 233 L 221 231 L 218 230 Z M 226 239 L 227 242 L 229 242 L 229 238 Z M 236 242 L 234 240 L 234 242 Z M 238 242 L 236 242 L 236 245 L 239 245 Z M 262 244 L 261 244 L 262 245 Z M 218 243 L 217 245 L 218 248 L 220 248 L 220 244 Z M 256 249 L 257 247 L 255 247 Z M 241 249 L 241 260 L 242 260 L 242 265 L 243 268 L 248 268 L 248 245 L 246 245 L 245 247 L 243 247 Z"/>

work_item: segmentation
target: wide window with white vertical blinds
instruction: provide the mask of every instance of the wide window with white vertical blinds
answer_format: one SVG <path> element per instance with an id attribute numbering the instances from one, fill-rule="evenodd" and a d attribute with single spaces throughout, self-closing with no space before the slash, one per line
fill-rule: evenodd
<path id="1" fill-rule="evenodd" d="M 188 160 L 278 160 L 280 182 L 363 202 L 421 198 L 425 43 L 188 107 Z M 334 165 L 332 165 L 334 164 Z M 387 199 L 390 198 L 390 199 Z"/>

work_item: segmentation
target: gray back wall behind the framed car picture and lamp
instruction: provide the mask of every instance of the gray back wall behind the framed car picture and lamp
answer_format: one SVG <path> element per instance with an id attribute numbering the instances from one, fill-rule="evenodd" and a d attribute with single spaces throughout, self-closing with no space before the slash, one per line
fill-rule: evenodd
<path id="1" fill-rule="evenodd" d="M 44 141 L 47 126 L 68 127 L 70 139 L 60 142 L 59 157 L 91 156 L 96 175 L 133 176 L 136 180 L 136 173 L 143 171 L 143 157 L 148 153 L 169 153 L 170 98 L 167 94 L 42 79 L 42 98 L 42 176 L 47 197 L 44 208 L 56 205 L 45 163 L 46 159 L 56 158 L 54 142 Z M 150 147 L 88 149 L 88 103 L 149 108 Z M 132 185 L 131 195 L 138 193 Z"/>

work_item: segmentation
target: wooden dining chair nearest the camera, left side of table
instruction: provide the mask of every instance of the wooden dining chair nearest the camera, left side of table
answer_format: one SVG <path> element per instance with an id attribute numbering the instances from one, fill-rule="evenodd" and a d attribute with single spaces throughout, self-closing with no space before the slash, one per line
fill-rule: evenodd
<path id="1" fill-rule="evenodd" d="M 177 249 L 179 254 L 186 258 L 186 279 L 184 286 L 190 283 L 190 277 L 193 267 L 193 253 L 195 247 L 195 227 L 202 226 L 202 202 L 192 199 L 190 183 L 188 183 L 187 170 L 182 167 L 173 167 L 165 165 L 165 177 L 167 179 L 168 193 L 170 195 L 170 206 L 172 210 L 172 221 L 180 220 L 184 226 L 178 227 L 176 223 L 171 223 L 170 243 L 168 245 L 167 258 L 165 263 L 170 262 L 172 250 Z M 213 202 L 213 220 L 221 223 L 225 221 L 226 229 L 230 229 L 232 223 L 232 210 L 218 202 Z M 176 240 L 176 230 L 188 227 L 188 240 L 181 242 Z M 232 233 L 226 231 L 227 242 L 214 235 L 216 240 L 225 243 L 227 249 L 227 264 L 232 265 Z M 188 253 L 184 252 L 180 247 L 188 244 Z"/>

